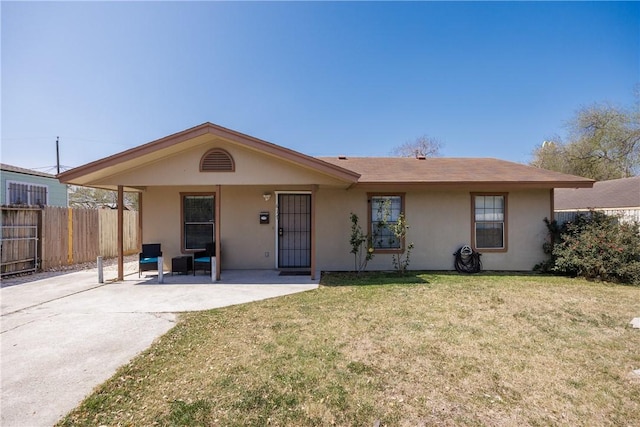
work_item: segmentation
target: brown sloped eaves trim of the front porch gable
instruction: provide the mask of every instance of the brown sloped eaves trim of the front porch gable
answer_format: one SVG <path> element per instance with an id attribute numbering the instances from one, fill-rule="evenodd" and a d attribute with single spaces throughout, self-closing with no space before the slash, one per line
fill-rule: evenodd
<path id="1" fill-rule="evenodd" d="M 125 173 L 137 167 L 142 161 L 150 163 L 188 150 L 200 143 L 203 138 L 211 136 L 346 183 L 355 183 L 360 176 L 340 166 L 207 122 L 63 172 L 58 175 L 58 179 L 61 182 L 91 186 L 98 181 L 104 182 L 105 177 Z"/>

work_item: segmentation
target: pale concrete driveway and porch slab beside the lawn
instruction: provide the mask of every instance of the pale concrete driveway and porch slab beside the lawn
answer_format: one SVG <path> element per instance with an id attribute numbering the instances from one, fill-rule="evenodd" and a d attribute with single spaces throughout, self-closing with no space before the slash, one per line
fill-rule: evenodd
<path id="1" fill-rule="evenodd" d="M 206 276 L 127 276 L 97 283 L 95 270 L 6 286 L 1 298 L 0 424 L 50 426 L 94 387 L 198 311 L 315 289 L 308 276 L 225 271 Z M 9 281 L 10 282 L 10 281 Z"/>

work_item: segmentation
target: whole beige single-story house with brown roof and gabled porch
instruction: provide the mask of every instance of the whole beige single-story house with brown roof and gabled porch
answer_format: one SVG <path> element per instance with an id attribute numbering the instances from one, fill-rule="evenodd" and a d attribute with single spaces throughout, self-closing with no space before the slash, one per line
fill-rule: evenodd
<path id="1" fill-rule="evenodd" d="M 406 241 L 376 239 L 369 269 L 452 270 L 471 244 L 488 270 L 545 258 L 554 188 L 592 180 L 496 159 L 315 158 L 204 123 L 59 175 L 68 184 L 140 192 L 142 242 L 171 258 L 215 241 L 220 269 L 352 270 L 350 213 L 378 229 L 404 212 Z M 383 230 L 384 232 L 384 230 Z M 221 266 L 221 267 L 220 267 Z"/>

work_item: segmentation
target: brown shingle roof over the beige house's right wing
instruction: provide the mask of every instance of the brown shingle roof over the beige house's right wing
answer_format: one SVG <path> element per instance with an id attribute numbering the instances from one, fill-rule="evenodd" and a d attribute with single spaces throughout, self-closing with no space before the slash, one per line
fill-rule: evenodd
<path id="1" fill-rule="evenodd" d="M 490 158 L 320 157 L 359 173 L 359 184 L 515 184 L 590 187 L 592 180 Z"/>

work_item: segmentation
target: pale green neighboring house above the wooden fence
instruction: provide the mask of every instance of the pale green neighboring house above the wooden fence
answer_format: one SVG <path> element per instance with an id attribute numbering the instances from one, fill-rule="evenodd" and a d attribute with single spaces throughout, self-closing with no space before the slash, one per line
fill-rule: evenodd
<path id="1" fill-rule="evenodd" d="M 0 164 L 0 203 L 3 206 L 67 207 L 67 186 L 55 175 Z"/>

